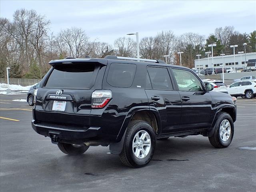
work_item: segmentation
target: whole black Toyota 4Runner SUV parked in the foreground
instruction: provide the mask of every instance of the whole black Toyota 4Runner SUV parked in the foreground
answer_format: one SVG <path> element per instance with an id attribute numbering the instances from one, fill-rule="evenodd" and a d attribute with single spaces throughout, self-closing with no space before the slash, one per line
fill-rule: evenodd
<path id="1" fill-rule="evenodd" d="M 35 92 L 32 127 L 65 154 L 109 145 L 137 168 L 150 162 L 156 139 L 201 134 L 216 148 L 232 141 L 235 98 L 211 92 L 189 68 L 116 56 L 49 64 Z"/>

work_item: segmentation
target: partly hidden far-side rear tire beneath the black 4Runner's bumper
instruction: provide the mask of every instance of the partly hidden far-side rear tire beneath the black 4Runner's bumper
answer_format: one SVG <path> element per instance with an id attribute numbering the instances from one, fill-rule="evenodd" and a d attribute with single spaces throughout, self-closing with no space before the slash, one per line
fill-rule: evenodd
<path id="1" fill-rule="evenodd" d="M 88 150 L 89 146 L 82 145 L 80 147 L 75 147 L 68 143 L 58 143 L 59 149 L 67 155 L 80 155 Z"/>

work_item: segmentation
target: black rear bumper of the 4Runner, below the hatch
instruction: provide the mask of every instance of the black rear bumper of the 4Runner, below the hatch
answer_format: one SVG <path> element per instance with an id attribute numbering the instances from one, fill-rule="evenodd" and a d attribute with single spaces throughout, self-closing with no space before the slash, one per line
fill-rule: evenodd
<path id="1" fill-rule="evenodd" d="M 86 141 L 92 138 L 102 136 L 102 130 L 100 127 L 90 127 L 88 129 L 76 129 L 68 128 L 64 126 L 50 126 L 46 124 L 36 123 L 35 120 L 31 122 L 32 128 L 40 135 L 53 136 L 57 140 L 69 140 L 69 141 Z"/>

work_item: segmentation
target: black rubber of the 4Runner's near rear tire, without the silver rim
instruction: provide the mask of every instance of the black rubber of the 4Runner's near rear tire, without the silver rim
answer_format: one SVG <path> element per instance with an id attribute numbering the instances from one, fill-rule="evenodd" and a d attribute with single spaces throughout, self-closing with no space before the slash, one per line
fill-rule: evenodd
<path id="1" fill-rule="evenodd" d="M 132 144 L 134 136 L 140 131 L 146 131 L 150 136 L 151 146 L 148 154 L 144 158 L 137 158 L 133 152 Z M 126 135 L 124 138 L 124 146 L 122 152 L 119 154 L 120 160 L 126 166 L 133 168 L 140 168 L 146 166 L 152 159 L 154 154 L 154 149 L 156 146 L 156 134 L 153 128 L 148 124 L 148 122 L 142 120 L 134 120 L 129 123 Z"/>

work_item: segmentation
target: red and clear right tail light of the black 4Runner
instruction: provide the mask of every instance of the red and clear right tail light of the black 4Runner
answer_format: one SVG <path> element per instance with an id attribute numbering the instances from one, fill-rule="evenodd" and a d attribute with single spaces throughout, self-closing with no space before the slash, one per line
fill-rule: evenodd
<path id="1" fill-rule="evenodd" d="M 104 108 L 111 99 L 110 90 L 95 90 L 92 93 L 92 108 Z"/>

